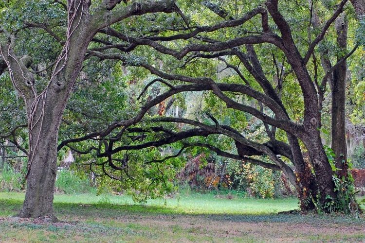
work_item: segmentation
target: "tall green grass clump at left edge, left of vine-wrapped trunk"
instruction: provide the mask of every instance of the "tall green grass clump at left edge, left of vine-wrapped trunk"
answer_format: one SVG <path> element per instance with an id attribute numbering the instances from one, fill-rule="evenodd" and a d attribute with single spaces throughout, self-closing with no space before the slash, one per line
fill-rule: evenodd
<path id="1" fill-rule="evenodd" d="M 21 173 L 17 173 L 8 163 L 5 163 L 0 173 L 0 191 L 20 191 L 22 177 Z"/>

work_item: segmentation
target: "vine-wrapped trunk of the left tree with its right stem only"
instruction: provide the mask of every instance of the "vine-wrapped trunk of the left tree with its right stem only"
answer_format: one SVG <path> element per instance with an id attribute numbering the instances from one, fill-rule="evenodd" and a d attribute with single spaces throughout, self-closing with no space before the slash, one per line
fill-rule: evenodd
<path id="1" fill-rule="evenodd" d="M 37 102 L 28 102 L 30 139 L 27 190 L 21 217 L 57 220 L 53 211 L 53 195 L 57 171 L 58 130 L 71 89 L 81 70 L 88 43 L 96 31 L 91 31 L 88 27 L 90 15 L 80 9 L 79 12 L 82 15 L 81 21 L 68 26 L 72 28 L 75 25 L 78 29 L 73 31 L 72 36 L 68 36 L 70 44 L 60 55 L 67 52 L 67 58 L 64 57 L 55 66 L 57 71 L 54 71 L 47 88 L 35 97 Z M 36 109 L 32 109 L 33 104 L 36 104 Z"/>

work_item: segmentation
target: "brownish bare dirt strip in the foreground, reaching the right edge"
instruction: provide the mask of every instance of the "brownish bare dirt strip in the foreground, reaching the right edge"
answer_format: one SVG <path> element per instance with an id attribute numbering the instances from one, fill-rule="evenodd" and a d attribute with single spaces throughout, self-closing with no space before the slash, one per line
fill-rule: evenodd
<path id="1" fill-rule="evenodd" d="M 309 224 L 292 222 L 237 222 L 214 220 L 204 216 L 123 216 L 113 218 L 116 222 L 137 223 L 142 226 L 172 228 L 180 226 L 189 233 L 218 237 L 251 236 L 269 241 L 297 241 L 303 236 L 348 236 L 365 235 L 365 226 L 345 226 L 336 224 Z"/>

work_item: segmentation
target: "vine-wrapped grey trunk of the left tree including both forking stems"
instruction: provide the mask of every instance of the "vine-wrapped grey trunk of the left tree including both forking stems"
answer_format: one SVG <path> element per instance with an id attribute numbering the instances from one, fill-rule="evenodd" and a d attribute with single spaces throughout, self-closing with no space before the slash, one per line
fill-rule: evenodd
<path id="1" fill-rule="evenodd" d="M 82 1 L 80 4 L 85 3 Z M 88 43 L 96 32 L 89 28 L 88 12 L 79 7 L 75 15 L 80 17 L 80 21 L 68 23 L 68 28 L 73 29 L 68 33 L 73 35 L 67 35 L 67 44 L 55 64 L 52 77 L 47 87 L 39 94 L 35 87 L 34 75 L 26 68 L 29 58 L 16 58 L 12 51 L 14 37 L 10 45 L 0 43 L 1 55 L 11 73 L 13 85 L 25 101 L 28 119 L 27 189 L 20 217 L 48 217 L 56 220 L 53 212 L 53 194 L 58 129 Z"/>

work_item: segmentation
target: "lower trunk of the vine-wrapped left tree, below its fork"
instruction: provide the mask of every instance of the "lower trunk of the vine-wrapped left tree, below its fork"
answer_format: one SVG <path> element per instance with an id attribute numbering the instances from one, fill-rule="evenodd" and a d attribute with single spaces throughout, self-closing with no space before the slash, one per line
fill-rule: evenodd
<path id="1" fill-rule="evenodd" d="M 64 90 L 62 90 L 65 92 Z M 57 171 L 58 129 L 66 101 L 55 102 L 60 92 L 49 89 L 37 105 L 28 129 L 29 152 L 26 194 L 20 217 L 50 218 L 56 220 L 53 211 L 53 195 Z"/>

